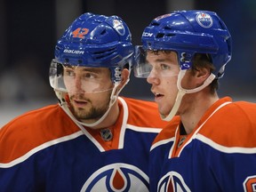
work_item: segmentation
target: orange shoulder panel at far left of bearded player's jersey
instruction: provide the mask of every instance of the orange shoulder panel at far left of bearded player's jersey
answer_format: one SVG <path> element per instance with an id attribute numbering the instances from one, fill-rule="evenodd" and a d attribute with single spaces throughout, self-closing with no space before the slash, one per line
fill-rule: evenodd
<path id="1" fill-rule="evenodd" d="M 65 122 L 65 126 L 60 122 Z M 0 129 L 0 162 L 10 162 L 47 141 L 79 131 L 59 105 L 30 111 Z"/>

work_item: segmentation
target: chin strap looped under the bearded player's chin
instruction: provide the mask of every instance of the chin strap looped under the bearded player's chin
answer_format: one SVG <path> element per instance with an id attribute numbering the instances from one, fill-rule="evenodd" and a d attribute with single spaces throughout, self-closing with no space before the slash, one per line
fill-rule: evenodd
<path id="1" fill-rule="evenodd" d="M 57 97 L 59 98 L 60 100 L 60 107 L 64 109 L 64 111 L 66 112 L 66 114 L 73 120 L 76 122 L 76 124 L 82 124 L 84 126 L 87 126 L 87 127 L 94 127 L 98 124 L 100 124 L 105 118 L 106 116 L 108 116 L 108 113 L 110 111 L 110 109 L 112 108 L 112 106 L 114 105 L 114 103 L 116 102 L 117 100 L 117 97 L 118 97 L 118 94 L 119 92 L 122 90 L 118 90 L 118 92 L 116 92 L 116 88 L 117 86 L 119 85 L 119 82 L 115 83 L 114 84 L 114 88 L 112 90 L 112 93 L 111 93 L 111 96 L 110 96 L 110 101 L 109 101 L 109 106 L 108 106 L 108 110 L 105 112 L 105 114 L 103 116 L 100 117 L 99 120 L 97 120 L 96 122 L 92 123 L 92 124 L 86 124 L 84 122 L 81 122 L 79 120 L 76 119 L 76 117 L 73 115 L 73 113 L 70 111 L 70 109 L 68 108 L 68 103 L 67 101 L 63 101 L 63 92 L 56 92 L 57 94 Z M 115 95 L 115 92 L 116 92 L 116 95 Z"/>

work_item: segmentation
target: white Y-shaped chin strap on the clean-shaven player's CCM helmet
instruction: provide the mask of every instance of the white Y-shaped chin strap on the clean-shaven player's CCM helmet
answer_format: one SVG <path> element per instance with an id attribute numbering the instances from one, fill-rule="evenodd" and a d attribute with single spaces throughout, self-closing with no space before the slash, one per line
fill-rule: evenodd
<path id="1" fill-rule="evenodd" d="M 160 115 L 161 118 L 164 120 L 164 121 L 171 121 L 173 116 L 176 115 L 178 109 L 180 108 L 180 102 L 183 98 L 183 96 L 186 94 L 186 93 L 194 93 L 194 92 L 199 92 L 201 90 L 203 90 L 206 86 L 208 86 L 209 84 L 212 83 L 212 81 L 214 80 L 215 78 L 215 75 L 214 74 L 211 74 L 210 76 L 208 76 L 208 78 L 204 81 L 204 84 L 202 84 L 201 86 L 199 87 L 196 87 L 195 89 L 191 89 L 191 90 L 187 90 L 187 89 L 184 89 L 182 88 L 181 86 L 181 80 L 182 78 L 185 76 L 186 74 L 186 71 L 187 69 L 184 69 L 184 70 L 180 70 L 180 73 L 178 75 L 178 80 L 177 80 L 177 87 L 178 87 L 178 93 L 177 93 L 177 96 L 176 96 L 176 100 L 175 100 L 175 103 L 174 103 L 174 106 L 172 107 L 172 110 L 170 111 L 170 113 L 168 114 L 168 116 L 164 116 L 164 115 Z"/>

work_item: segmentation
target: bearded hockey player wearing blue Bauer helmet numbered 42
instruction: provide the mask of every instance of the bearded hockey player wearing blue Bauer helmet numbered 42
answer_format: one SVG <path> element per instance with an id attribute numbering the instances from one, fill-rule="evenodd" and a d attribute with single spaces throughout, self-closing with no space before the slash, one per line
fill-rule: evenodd
<path id="1" fill-rule="evenodd" d="M 0 191 L 148 191 L 148 154 L 166 124 L 155 102 L 118 97 L 132 36 L 117 16 L 84 13 L 60 37 L 50 84 L 60 104 L 0 130 Z"/>

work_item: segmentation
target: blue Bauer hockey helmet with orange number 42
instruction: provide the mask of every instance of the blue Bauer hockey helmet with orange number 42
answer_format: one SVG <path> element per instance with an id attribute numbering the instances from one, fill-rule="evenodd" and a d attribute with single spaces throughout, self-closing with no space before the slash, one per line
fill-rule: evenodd
<path id="1" fill-rule="evenodd" d="M 124 20 L 87 12 L 60 37 L 55 59 L 73 66 L 110 68 L 112 80 L 119 81 L 116 68 L 132 65 L 133 52 L 132 35 Z"/>

